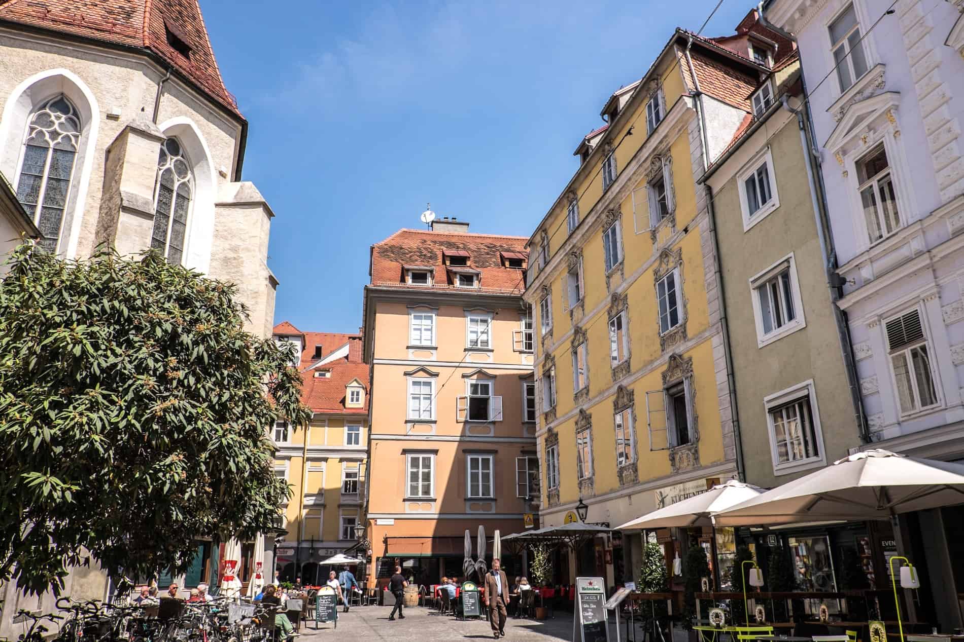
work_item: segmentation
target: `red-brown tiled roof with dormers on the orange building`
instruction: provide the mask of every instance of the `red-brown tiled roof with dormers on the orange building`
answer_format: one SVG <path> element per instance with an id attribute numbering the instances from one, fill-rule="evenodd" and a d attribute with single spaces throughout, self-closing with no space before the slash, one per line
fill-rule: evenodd
<path id="1" fill-rule="evenodd" d="M 525 289 L 523 271 L 502 266 L 499 252 L 525 252 L 523 237 L 495 236 L 459 232 L 431 232 L 401 229 L 388 239 L 371 246 L 371 284 L 419 290 L 455 289 L 442 262 L 442 251 L 463 249 L 469 252 L 469 270 L 480 273 L 481 292 L 516 293 Z M 435 285 L 413 286 L 405 283 L 403 266 L 435 269 Z M 461 292 L 471 292 L 459 289 Z"/>

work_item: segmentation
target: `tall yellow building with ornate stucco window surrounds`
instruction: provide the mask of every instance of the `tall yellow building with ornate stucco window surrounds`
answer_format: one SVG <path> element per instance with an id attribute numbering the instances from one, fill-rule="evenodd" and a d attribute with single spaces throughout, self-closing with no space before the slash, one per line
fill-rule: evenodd
<path id="1" fill-rule="evenodd" d="M 620 526 L 736 476 L 705 192 L 759 67 L 677 30 L 603 107 L 529 240 L 544 525 Z M 638 574 L 638 536 L 599 537 L 558 580 Z M 569 576 L 568 578 L 566 576 Z"/>

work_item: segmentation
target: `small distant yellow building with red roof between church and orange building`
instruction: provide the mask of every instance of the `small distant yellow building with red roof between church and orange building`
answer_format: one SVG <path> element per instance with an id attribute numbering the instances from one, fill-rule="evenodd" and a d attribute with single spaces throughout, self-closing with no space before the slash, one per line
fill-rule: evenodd
<path id="1" fill-rule="evenodd" d="M 285 321 L 274 336 L 297 346 L 293 365 L 302 372 L 302 400 L 312 411 L 308 425 L 279 421 L 272 435 L 275 473 L 291 489 L 276 569 L 282 580 L 320 584 L 329 567 L 319 562 L 356 552 L 363 537 L 368 367 L 361 334 L 302 332 Z"/>

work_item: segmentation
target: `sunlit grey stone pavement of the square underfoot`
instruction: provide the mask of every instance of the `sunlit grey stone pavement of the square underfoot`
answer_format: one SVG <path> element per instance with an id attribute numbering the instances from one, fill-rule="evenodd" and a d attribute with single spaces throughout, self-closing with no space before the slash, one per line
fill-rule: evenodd
<path id="1" fill-rule="evenodd" d="M 393 642 L 442 642 L 449 640 L 492 640 L 489 621 L 481 618 L 457 620 L 450 615 L 439 615 L 434 609 L 413 606 L 405 609 L 405 619 L 388 621 L 390 606 L 353 606 L 348 613 L 338 609 L 337 629 L 322 624 L 314 629 L 314 620 L 303 622 L 301 637 L 296 642 L 323 640 L 392 640 Z M 621 631 L 623 632 L 623 631 Z M 515 619 L 505 624 L 506 642 L 526 640 L 550 642 L 573 639 L 573 614 L 558 611 L 548 620 Z M 615 630 L 610 625 L 610 639 L 615 641 Z M 641 638 L 640 638 L 641 639 Z"/>

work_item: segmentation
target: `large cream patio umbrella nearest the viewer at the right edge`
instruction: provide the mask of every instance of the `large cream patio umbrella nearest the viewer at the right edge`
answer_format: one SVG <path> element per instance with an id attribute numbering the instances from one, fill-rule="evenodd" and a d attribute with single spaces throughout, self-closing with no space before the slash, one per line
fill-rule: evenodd
<path id="1" fill-rule="evenodd" d="M 957 503 L 964 503 L 964 465 L 870 449 L 712 518 L 716 526 L 861 522 Z"/>

